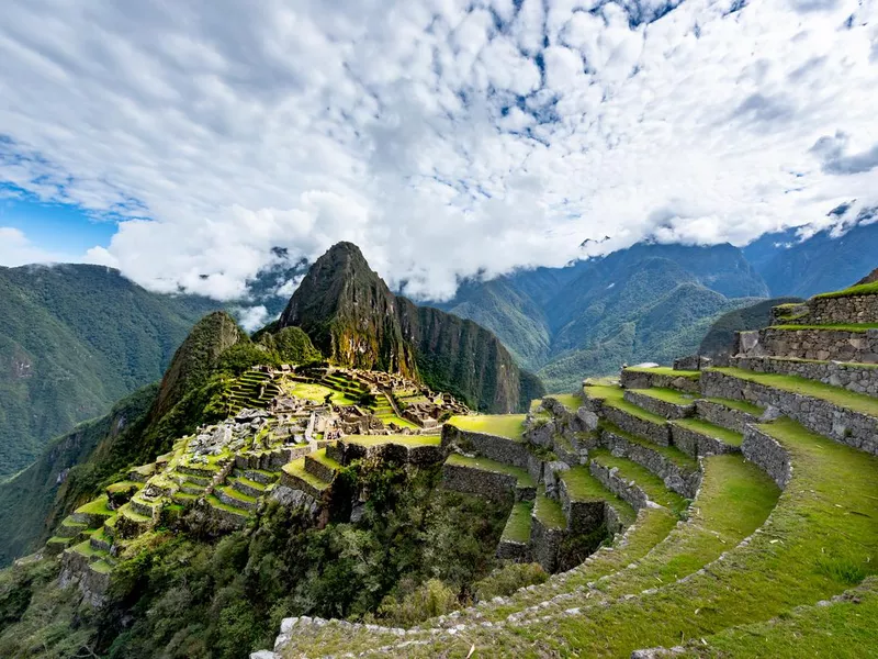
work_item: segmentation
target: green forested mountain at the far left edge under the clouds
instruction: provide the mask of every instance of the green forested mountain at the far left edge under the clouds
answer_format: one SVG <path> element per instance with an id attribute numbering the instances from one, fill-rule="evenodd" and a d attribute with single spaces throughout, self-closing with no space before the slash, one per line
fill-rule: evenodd
<path id="1" fill-rule="evenodd" d="M 99 266 L 0 268 L 0 477 L 161 377 L 217 306 L 150 293 Z"/>

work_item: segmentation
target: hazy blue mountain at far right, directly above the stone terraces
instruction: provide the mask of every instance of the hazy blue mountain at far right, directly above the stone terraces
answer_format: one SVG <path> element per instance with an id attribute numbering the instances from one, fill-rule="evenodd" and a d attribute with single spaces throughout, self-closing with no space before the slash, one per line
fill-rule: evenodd
<path id="1" fill-rule="evenodd" d="M 832 230 L 799 241 L 796 230 L 766 234 L 744 248 L 772 295 L 810 298 L 851 286 L 875 268 L 878 222 L 859 223 L 843 235 Z"/>

